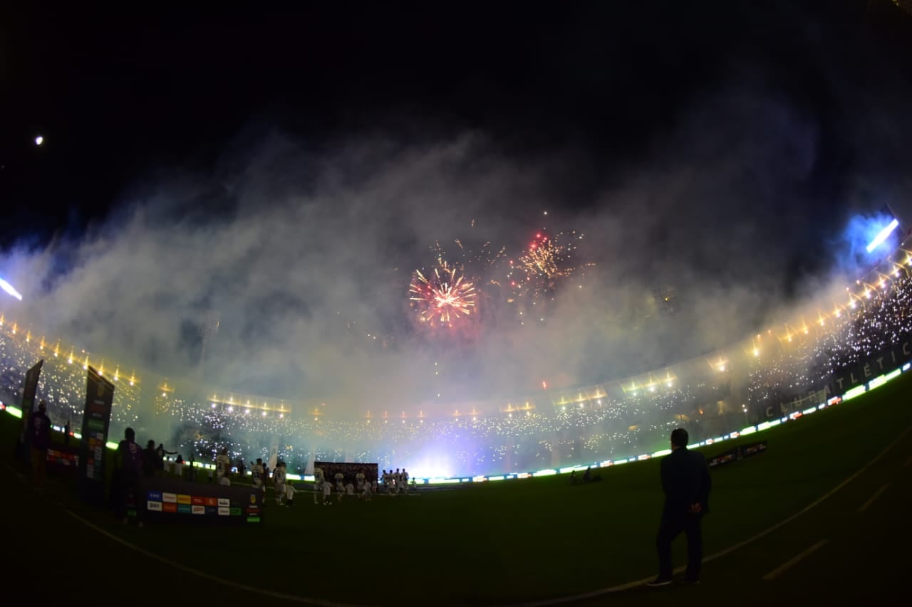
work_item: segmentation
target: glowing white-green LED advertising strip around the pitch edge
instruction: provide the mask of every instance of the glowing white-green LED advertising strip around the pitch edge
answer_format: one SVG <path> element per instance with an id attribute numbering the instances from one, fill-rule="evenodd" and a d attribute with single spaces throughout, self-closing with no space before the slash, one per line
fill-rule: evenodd
<path id="1" fill-rule="evenodd" d="M 701 440 L 699 443 L 695 443 L 690 446 L 690 448 L 701 448 L 701 447 L 710 447 L 716 443 L 724 442 L 731 438 L 746 437 L 757 432 L 762 432 L 763 430 L 768 430 L 771 427 L 781 426 L 782 424 L 793 421 L 800 417 L 809 416 L 817 411 L 821 411 L 828 406 L 838 405 L 839 403 L 845 403 L 848 400 L 852 400 L 857 396 L 861 396 L 866 392 L 870 392 L 880 386 L 884 386 L 887 382 L 896 379 L 896 377 L 907 372 L 912 368 L 912 363 L 906 363 L 899 368 L 890 371 L 881 376 L 876 376 L 874 379 L 869 381 L 867 384 L 862 384 L 861 386 L 855 386 L 849 390 L 846 390 L 841 396 L 832 396 L 828 399 L 825 399 L 823 402 L 819 402 L 814 406 L 809 406 L 803 411 L 793 411 L 785 417 L 780 417 L 778 419 L 773 419 L 771 421 L 765 421 L 754 426 L 743 427 L 741 430 L 735 430 L 728 434 L 720 435 L 714 438 L 707 438 L 706 440 Z M 818 392 L 817 394 L 823 394 L 823 391 Z M 22 417 L 22 409 L 16 406 L 5 405 L 0 402 L 0 411 L 5 411 L 6 413 L 12 415 L 13 417 Z M 62 432 L 62 427 L 54 427 L 58 432 Z M 79 440 L 82 439 L 82 436 L 78 432 L 73 432 L 72 436 Z M 106 445 L 111 450 L 117 450 L 117 443 L 109 441 Z M 606 459 L 604 461 L 595 461 L 589 464 L 580 464 L 577 466 L 570 466 L 567 468 L 546 468 L 544 470 L 538 470 L 535 472 L 512 472 L 510 474 L 498 474 L 498 475 L 478 475 L 474 477 L 439 477 L 439 478 L 412 478 L 416 485 L 460 485 L 462 483 L 479 483 L 479 482 L 491 482 L 497 480 L 512 480 L 516 478 L 538 478 L 538 477 L 550 477 L 555 474 L 565 474 L 567 472 L 581 472 L 586 470 L 586 468 L 609 468 L 612 466 L 621 466 L 623 464 L 632 464 L 638 461 L 647 461 L 648 459 L 661 458 L 667 456 L 671 453 L 671 449 L 663 449 L 661 451 L 656 451 L 655 453 L 644 453 L 632 458 L 619 458 L 619 459 Z M 194 462 L 192 464 L 194 468 L 202 468 L 206 470 L 214 470 L 214 464 L 204 464 L 202 462 Z M 286 478 L 289 480 L 303 480 L 305 482 L 313 482 L 314 475 L 298 475 L 298 474 L 288 474 Z"/>

